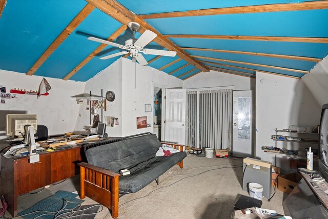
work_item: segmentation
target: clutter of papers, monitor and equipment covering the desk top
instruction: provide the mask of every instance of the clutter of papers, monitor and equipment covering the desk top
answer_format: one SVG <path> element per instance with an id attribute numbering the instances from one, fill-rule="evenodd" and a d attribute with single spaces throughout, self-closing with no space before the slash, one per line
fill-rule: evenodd
<path id="1" fill-rule="evenodd" d="M 81 146 L 108 137 L 105 123 L 98 123 L 95 133 L 91 133 L 90 130 L 82 134 L 68 132 L 56 137 L 50 136 L 48 138 L 46 136 L 46 140 L 44 137 L 39 138 L 37 136 L 37 127 L 36 115 L 7 114 L 6 134 L 9 139 L 5 142 L 8 145 L 0 152 L 4 153 L 5 156 L 13 157 L 29 155 L 31 161 L 38 162 L 38 154 Z"/>

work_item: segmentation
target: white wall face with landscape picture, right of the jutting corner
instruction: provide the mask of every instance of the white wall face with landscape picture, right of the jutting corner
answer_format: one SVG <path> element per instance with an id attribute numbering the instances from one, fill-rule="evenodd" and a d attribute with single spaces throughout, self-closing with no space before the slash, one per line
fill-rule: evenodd
<path id="1" fill-rule="evenodd" d="M 145 112 L 145 104 L 154 102 L 153 85 L 165 88 L 182 87 L 181 79 L 149 66 L 140 66 L 122 58 L 122 134 L 153 133 L 153 112 Z M 136 117 L 147 116 L 149 128 L 136 128 Z"/>

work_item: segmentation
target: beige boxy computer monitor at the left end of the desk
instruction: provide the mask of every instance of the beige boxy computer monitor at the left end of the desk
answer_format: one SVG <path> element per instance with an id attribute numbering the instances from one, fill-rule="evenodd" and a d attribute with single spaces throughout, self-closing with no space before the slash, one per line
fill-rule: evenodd
<path id="1" fill-rule="evenodd" d="M 14 138 L 22 138 L 25 134 L 24 126 L 33 127 L 34 134 L 37 130 L 36 115 L 32 114 L 7 114 L 6 116 L 6 135 Z"/>

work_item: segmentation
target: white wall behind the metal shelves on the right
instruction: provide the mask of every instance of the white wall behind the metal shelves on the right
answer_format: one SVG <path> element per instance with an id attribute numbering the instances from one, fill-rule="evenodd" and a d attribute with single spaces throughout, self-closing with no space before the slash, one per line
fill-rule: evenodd
<path id="1" fill-rule="evenodd" d="M 273 130 L 288 129 L 290 125 L 315 127 L 320 122 L 320 115 L 321 107 L 302 80 L 256 72 L 256 157 L 274 165 L 275 156 L 261 149 L 275 145 L 271 140 L 271 135 L 275 134 Z M 305 151 L 309 146 L 316 145 L 277 143 L 279 148 L 292 150 Z M 277 155 L 277 166 L 288 171 L 288 158 Z"/>

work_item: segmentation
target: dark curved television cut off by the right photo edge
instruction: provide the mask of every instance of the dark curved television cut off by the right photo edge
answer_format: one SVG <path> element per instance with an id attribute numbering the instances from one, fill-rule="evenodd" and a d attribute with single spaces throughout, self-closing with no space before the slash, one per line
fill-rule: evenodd
<path id="1" fill-rule="evenodd" d="M 319 128 L 319 171 L 328 181 L 328 104 L 322 106 Z"/>

